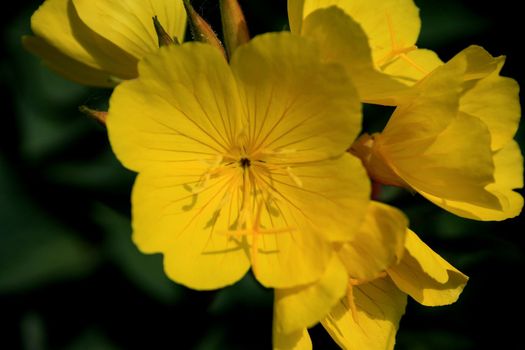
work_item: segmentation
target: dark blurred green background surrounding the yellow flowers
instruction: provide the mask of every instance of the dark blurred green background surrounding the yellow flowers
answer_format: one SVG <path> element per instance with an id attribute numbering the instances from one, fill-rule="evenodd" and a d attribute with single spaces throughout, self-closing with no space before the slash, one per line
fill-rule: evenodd
<path id="1" fill-rule="evenodd" d="M 447 60 L 478 44 L 507 55 L 503 75 L 524 81 L 519 2 L 416 2 L 420 47 Z M 82 104 L 104 107 L 110 91 L 68 82 L 23 50 L 20 37 L 30 33 L 39 4 L 9 2 L 1 10 L 0 349 L 269 349 L 272 292 L 250 275 L 230 288 L 195 292 L 164 276 L 160 256 L 133 246 L 134 175 L 115 160 L 104 128 L 78 112 Z M 218 29 L 217 2 L 194 4 Z M 241 4 L 253 34 L 286 28 L 284 0 Z M 368 120 L 385 115 L 366 113 Z M 523 145 L 523 128 L 517 138 Z M 454 305 L 409 301 L 396 348 L 522 344 L 523 218 L 482 223 L 407 193 L 388 200 L 470 276 Z M 317 349 L 336 348 L 321 327 L 311 334 Z"/>

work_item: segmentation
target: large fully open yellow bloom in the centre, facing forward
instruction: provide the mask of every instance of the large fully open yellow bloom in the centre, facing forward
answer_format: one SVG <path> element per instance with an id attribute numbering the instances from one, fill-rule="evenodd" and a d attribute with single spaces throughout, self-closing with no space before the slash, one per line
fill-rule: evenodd
<path id="1" fill-rule="evenodd" d="M 369 179 L 345 152 L 360 126 L 351 81 L 304 38 L 256 37 L 229 65 L 210 45 L 160 48 L 107 117 L 114 152 L 139 173 L 135 243 L 194 289 L 250 266 L 266 287 L 319 281 L 367 211 Z"/>

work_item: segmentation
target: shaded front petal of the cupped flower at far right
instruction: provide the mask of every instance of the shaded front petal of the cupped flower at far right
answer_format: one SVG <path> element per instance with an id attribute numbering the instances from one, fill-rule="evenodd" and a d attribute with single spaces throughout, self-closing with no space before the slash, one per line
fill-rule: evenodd
<path id="1" fill-rule="evenodd" d="M 422 194 L 500 209 L 485 190 L 494 171 L 488 129 L 458 114 L 466 69 L 465 61 L 453 60 L 418 83 L 419 95 L 396 109 L 374 151 Z"/>

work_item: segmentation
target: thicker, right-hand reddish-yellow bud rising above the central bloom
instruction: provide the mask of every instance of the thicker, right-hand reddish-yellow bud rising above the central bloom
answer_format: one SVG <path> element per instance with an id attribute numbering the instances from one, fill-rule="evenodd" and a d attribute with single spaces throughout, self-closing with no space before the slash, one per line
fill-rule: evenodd
<path id="1" fill-rule="evenodd" d="M 228 56 L 232 57 L 237 47 L 250 40 L 250 33 L 237 0 L 220 0 L 220 5 L 224 43 Z"/>

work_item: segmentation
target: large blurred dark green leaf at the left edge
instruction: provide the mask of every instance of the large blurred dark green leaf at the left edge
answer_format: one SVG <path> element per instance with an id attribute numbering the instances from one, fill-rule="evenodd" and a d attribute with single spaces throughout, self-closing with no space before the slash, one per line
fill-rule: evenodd
<path id="1" fill-rule="evenodd" d="M 2 158 L 0 222 L 0 293 L 78 278 L 98 261 L 76 232 L 31 200 Z"/>

